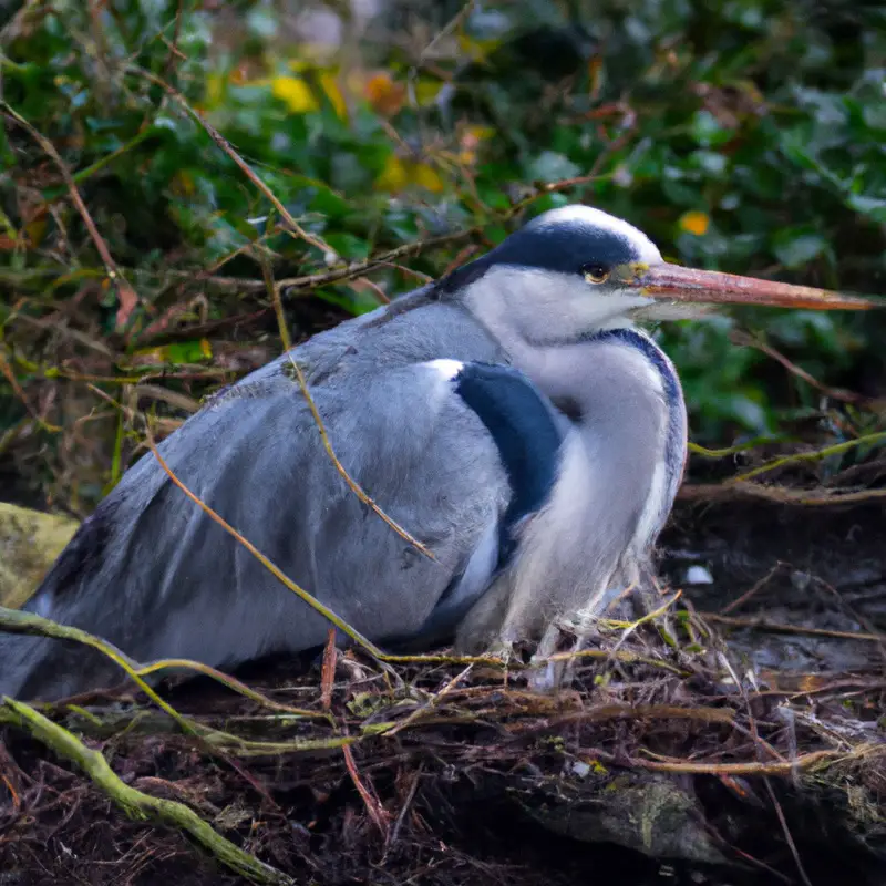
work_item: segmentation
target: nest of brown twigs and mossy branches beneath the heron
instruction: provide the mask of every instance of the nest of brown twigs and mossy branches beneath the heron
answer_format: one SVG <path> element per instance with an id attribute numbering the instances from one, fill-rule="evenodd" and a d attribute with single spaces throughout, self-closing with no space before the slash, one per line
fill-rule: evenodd
<path id="1" fill-rule="evenodd" d="M 164 684 L 165 710 L 7 700 L 3 883 L 628 883 L 643 859 L 879 882 L 882 680 L 760 683 L 689 610 L 611 625 L 571 666 L 543 694 L 521 661 L 330 646 Z"/>

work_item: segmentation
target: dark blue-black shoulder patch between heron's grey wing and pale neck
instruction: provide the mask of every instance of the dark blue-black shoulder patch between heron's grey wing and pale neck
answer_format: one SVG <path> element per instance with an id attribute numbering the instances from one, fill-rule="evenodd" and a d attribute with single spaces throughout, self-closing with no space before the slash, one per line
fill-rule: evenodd
<path id="1" fill-rule="evenodd" d="M 543 395 L 511 367 L 466 363 L 455 390 L 486 425 L 511 483 L 502 526 L 504 560 L 513 552 L 516 523 L 538 511 L 554 487 L 563 436 Z"/>

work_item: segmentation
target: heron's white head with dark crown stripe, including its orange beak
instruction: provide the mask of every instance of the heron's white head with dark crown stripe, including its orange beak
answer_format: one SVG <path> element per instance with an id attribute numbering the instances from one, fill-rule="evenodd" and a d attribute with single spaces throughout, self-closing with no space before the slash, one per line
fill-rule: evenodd
<path id="1" fill-rule="evenodd" d="M 493 331 L 506 323 L 539 344 L 635 320 L 692 318 L 718 303 L 875 307 L 865 298 L 673 265 L 641 230 L 581 205 L 543 213 L 439 287 L 457 292 Z"/>

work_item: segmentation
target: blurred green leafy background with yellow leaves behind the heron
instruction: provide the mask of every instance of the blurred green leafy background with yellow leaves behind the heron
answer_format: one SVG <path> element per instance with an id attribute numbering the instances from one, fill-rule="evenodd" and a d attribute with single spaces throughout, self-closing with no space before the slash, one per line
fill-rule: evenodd
<path id="1" fill-rule="evenodd" d="M 849 0 L 0 0 L 0 497 L 91 511 L 127 410 L 162 436 L 279 353 L 277 281 L 387 256 L 282 289 L 298 341 L 573 200 L 677 261 L 886 292 L 885 74 L 886 4 Z M 882 430 L 884 333 L 656 332 L 704 445 Z"/>

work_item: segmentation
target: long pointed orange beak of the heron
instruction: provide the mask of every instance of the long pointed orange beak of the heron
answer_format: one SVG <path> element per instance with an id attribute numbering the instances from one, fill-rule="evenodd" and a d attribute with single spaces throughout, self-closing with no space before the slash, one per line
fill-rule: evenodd
<path id="1" fill-rule="evenodd" d="M 709 305 L 762 305 L 771 308 L 864 311 L 886 307 L 886 299 L 851 296 L 810 286 L 793 286 L 735 274 L 696 270 L 679 265 L 632 265 L 626 282 L 639 295 Z"/>

